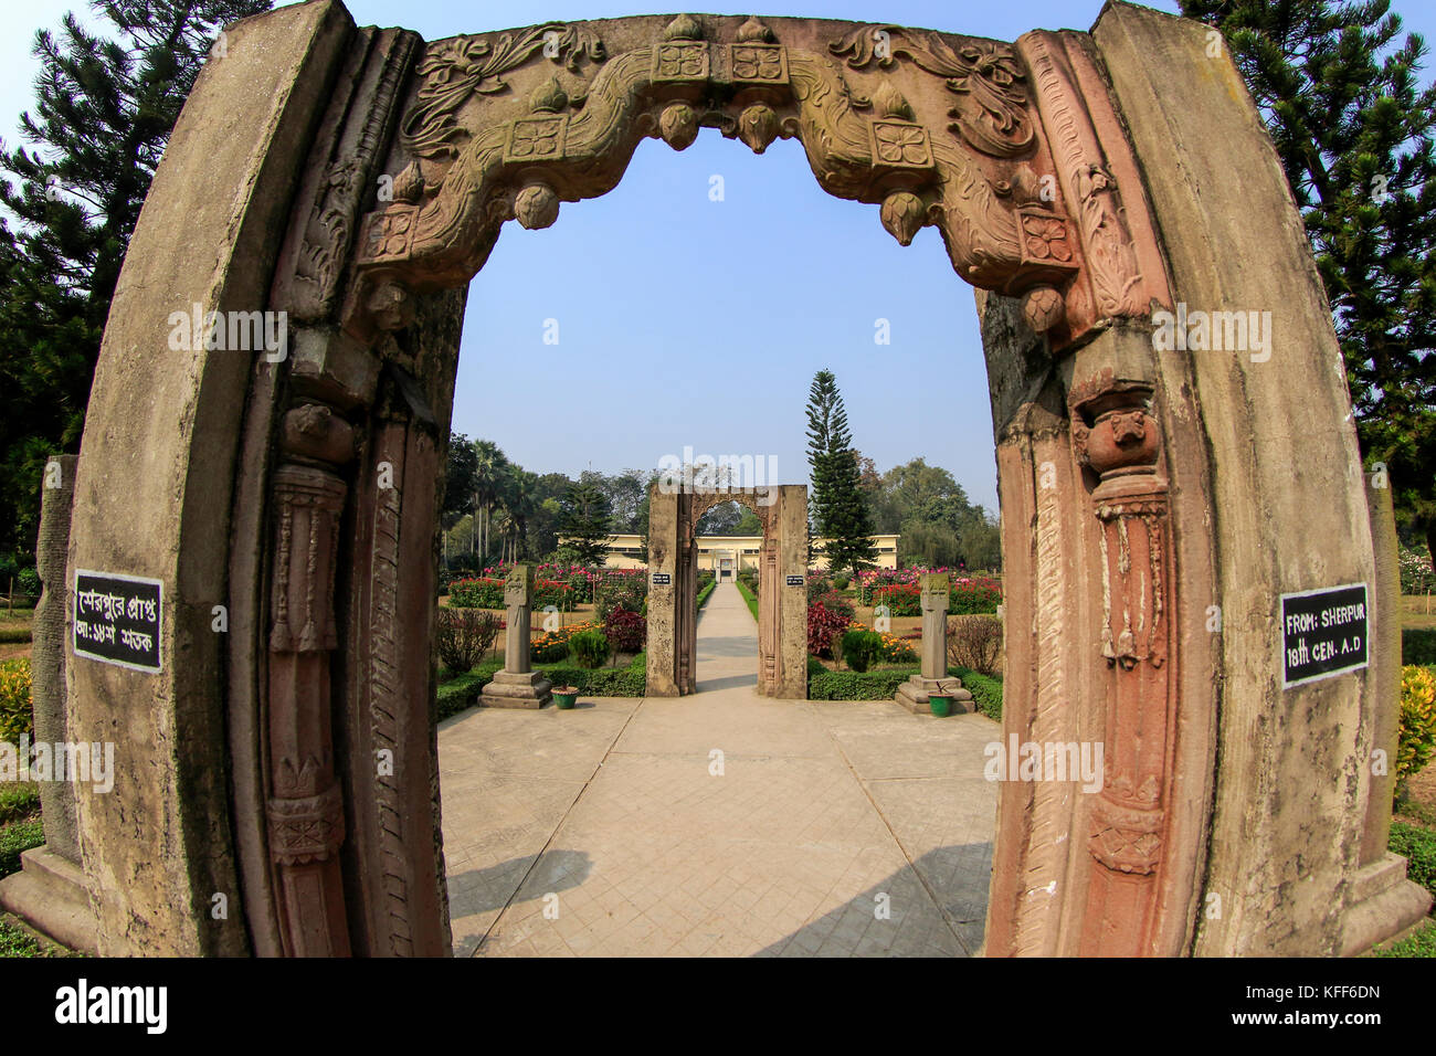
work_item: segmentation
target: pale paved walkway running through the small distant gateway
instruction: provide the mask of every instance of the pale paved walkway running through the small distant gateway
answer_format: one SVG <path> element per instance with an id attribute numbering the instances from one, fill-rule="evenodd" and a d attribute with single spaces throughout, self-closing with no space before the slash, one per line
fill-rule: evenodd
<path id="1" fill-rule="evenodd" d="M 757 626 L 722 583 L 694 697 L 447 720 L 454 953 L 976 953 L 999 727 L 755 684 Z"/>

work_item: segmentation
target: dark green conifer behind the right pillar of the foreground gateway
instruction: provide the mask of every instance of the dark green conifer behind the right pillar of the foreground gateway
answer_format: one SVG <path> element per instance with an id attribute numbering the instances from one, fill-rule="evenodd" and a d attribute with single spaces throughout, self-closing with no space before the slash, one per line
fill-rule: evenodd
<path id="1" fill-rule="evenodd" d="M 1182 0 L 1261 108 L 1331 302 L 1367 464 L 1436 556 L 1436 86 L 1389 0 Z"/>

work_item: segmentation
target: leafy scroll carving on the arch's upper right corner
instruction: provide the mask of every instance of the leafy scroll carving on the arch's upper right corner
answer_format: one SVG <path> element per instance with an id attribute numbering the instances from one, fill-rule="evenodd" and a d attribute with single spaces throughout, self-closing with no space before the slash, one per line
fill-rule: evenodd
<path id="1" fill-rule="evenodd" d="M 853 69 L 875 60 L 886 69 L 905 57 L 945 78 L 948 91 L 959 96 L 958 105 L 948 112 L 955 119 L 948 128 L 984 154 L 1015 158 L 1032 147 L 1027 75 L 1007 45 L 965 40 L 954 47 L 928 30 L 859 26 L 830 43 L 829 50 L 847 56 Z"/>

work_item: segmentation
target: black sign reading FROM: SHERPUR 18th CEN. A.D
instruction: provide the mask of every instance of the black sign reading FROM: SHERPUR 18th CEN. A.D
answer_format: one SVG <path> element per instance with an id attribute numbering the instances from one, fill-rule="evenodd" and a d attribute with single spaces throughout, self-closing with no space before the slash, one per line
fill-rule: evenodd
<path id="1" fill-rule="evenodd" d="M 1284 690 L 1364 668 L 1370 638 L 1366 583 L 1284 593 L 1281 629 Z"/>

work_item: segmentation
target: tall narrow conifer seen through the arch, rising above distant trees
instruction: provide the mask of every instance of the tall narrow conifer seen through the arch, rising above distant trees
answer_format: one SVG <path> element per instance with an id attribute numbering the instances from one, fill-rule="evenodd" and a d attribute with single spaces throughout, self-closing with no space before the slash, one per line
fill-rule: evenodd
<path id="1" fill-rule="evenodd" d="M 847 408 L 831 371 L 813 375 L 807 421 L 813 527 L 827 540 L 823 552 L 829 568 L 857 572 L 873 563 L 877 547 Z"/>

